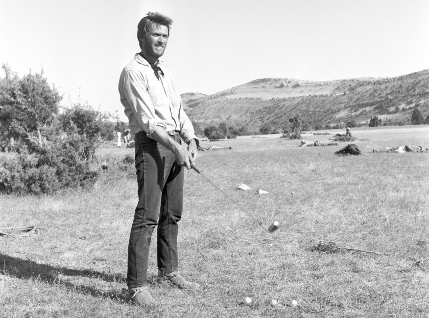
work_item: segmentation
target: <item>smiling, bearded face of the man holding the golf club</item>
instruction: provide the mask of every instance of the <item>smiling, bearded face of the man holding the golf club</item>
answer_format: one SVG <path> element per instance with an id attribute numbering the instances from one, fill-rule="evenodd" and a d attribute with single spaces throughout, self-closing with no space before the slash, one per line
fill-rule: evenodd
<path id="1" fill-rule="evenodd" d="M 169 41 L 169 28 L 157 24 L 149 24 L 141 43 L 141 53 L 149 59 L 148 62 L 154 63 L 164 54 L 165 47 Z"/>

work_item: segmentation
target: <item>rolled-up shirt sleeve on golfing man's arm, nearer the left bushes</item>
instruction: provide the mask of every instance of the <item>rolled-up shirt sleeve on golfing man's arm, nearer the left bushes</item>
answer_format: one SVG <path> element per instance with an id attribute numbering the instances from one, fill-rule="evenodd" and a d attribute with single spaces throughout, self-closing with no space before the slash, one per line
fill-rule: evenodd
<path id="1" fill-rule="evenodd" d="M 145 79 L 138 72 L 127 71 L 119 83 L 121 102 L 125 107 L 125 115 L 135 117 L 141 130 L 151 135 L 156 126 L 166 128 L 163 121 L 156 115 Z M 135 132 L 134 132 L 135 133 Z"/>

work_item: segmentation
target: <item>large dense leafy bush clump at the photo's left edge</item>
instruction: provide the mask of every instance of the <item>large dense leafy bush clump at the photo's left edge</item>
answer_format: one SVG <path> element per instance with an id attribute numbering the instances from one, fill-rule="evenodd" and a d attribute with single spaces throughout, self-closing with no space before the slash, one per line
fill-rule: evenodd
<path id="1" fill-rule="evenodd" d="M 19 78 L 6 65 L 3 69 L 0 125 L 19 147 L 0 163 L 0 192 L 52 193 L 91 184 L 98 173 L 85 159 L 100 140 L 103 115 L 79 104 L 58 116 L 61 97 L 43 72 Z"/>

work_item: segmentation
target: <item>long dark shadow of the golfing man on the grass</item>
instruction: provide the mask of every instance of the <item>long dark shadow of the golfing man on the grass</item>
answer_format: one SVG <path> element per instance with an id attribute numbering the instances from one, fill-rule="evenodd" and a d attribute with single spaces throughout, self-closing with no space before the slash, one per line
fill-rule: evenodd
<path id="1" fill-rule="evenodd" d="M 125 302 L 126 293 L 124 290 L 100 291 L 97 288 L 74 284 L 63 281 L 60 275 L 80 276 L 91 279 L 101 279 L 105 282 L 126 283 L 126 278 L 120 274 L 106 274 L 104 272 L 93 271 L 89 269 L 70 269 L 66 267 L 54 267 L 46 264 L 38 264 L 30 260 L 22 260 L 16 257 L 0 254 L 0 272 L 6 276 L 19 279 L 35 279 L 50 284 L 64 286 L 71 291 L 90 294 L 97 298 L 110 298 L 112 300 Z"/>

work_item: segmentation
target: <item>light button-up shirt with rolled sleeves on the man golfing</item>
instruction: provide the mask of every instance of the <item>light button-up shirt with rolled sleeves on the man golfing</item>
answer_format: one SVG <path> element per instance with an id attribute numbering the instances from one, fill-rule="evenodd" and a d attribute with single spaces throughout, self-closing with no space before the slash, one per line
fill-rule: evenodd
<path id="1" fill-rule="evenodd" d="M 131 131 L 134 134 L 145 131 L 151 137 L 155 127 L 161 126 L 165 131 L 180 131 L 185 143 L 196 139 L 198 145 L 172 73 L 160 62 L 157 66 L 164 75 L 158 72 L 157 77 L 150 63 L 136 53 L 121 73 L 119 94 Z"/>

